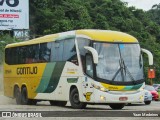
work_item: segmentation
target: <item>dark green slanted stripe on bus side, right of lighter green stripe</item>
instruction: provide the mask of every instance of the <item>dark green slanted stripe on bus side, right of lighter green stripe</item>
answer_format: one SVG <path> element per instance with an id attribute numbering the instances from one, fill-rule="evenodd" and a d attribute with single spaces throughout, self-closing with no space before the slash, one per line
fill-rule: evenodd
<path id="1" fill-rule="evenodd" d="M 57 88 L 65 63 L 66 62 L 56 62 L 51 79 L 44 93 L 51 93 Z"/>

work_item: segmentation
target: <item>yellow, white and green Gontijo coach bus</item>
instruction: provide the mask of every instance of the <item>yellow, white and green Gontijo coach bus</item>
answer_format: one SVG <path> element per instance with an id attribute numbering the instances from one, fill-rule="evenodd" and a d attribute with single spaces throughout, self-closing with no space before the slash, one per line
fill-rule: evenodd
<path id="1" fill-rule="evenodd" d="M 75 109 L 87 104 L 122 109 L 144 101 L 142 52 L 152 66 L 151 52 L 135 37 L 111 30 L 73 30 L 8 44 L 4 95 L 22 105 L 49 101 L 70 102 Z"/>

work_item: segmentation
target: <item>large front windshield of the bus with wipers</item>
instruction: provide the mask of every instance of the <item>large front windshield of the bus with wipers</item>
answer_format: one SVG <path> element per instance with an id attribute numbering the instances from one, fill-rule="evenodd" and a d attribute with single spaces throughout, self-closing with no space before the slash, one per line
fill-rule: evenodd
<path id="1" fill-rule="evenodd" d="M 115 82 L 143 80 L 143 60 L 139 44 L 94 43 L 99 55 L 97 77 Z"/>

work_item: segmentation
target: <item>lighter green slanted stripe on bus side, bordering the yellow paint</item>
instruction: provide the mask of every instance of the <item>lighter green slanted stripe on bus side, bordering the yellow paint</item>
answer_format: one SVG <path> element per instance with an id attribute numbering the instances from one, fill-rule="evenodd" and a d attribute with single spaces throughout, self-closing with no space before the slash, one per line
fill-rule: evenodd
<path id="1" fill-rule="evenodd" d="M 55 67 L 55 64 L 56 64 L 56 62 L 46 64 L 41 82 L 40 82 L 38 88 L 36 89 L 37 93 L 43 93 L 47 89 L 47 86 L 49 84 L 50 78 L 52 76 L 52 73 L 53 73 L 53 70 Z"/>

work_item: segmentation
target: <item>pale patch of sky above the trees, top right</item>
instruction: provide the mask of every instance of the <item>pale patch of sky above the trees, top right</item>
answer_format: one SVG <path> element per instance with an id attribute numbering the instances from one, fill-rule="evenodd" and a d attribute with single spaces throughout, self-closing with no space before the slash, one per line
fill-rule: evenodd
<path id="1" fill-rule="evenodd" d="M 153 5 L 159 4 L 160 0 L 121 0 L 128 2 L 128 6 L 135 6 L 136 8 L 143 9 L 145 11 L 152 8 Z"/>

